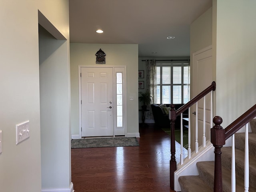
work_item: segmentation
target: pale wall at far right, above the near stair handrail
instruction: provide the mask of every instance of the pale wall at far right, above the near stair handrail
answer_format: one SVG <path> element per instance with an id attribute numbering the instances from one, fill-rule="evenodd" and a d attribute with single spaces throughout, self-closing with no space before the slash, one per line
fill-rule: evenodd
<path id="1" fill-rule="evenodd" d="M 216 115 L 225 128 L 256 103 L 256 1 L 214 0 Z"/>

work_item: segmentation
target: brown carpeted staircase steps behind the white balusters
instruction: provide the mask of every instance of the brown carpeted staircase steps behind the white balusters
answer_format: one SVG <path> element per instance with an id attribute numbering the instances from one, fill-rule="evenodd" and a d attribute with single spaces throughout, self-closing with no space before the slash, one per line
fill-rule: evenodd
<path id="1" fill-rule="evenodd" d="M 249 191 L 256 192 L 256 119 L 250 121 L 249 133 Z M 244 191 L 244 133 L 235 134 L 236 192 Z M 231 192 L 231 147 L 222 147 L 223 192 Z M 214 161 L 197 162 L 198 176 L 180 176 L 181 192 L 213 192 Z"/>

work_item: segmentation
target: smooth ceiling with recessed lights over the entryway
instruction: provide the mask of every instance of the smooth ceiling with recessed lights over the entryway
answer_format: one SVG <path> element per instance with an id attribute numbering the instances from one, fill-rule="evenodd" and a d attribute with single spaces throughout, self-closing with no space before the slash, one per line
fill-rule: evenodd
<path id="1" fill-rule="evenodd" d="M 139 57 L 190 56 L 190 24 L 211 6 L 212 0 L 69 0 L 70 42 L 138 44 Z"/>

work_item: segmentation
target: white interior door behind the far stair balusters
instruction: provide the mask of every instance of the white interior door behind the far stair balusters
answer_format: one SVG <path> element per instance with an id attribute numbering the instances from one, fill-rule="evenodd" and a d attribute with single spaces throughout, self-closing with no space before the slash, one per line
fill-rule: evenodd
<path id="1" fill-rule="evenodd" d="M 192 98 L 206 89 L 212 84 L 212 47 L 207 47 L 203 50 L 193 54 L 193 70 L 192 70 Z M 206 140 L 210 138 L 210 94 L 206 96 Z M 203 112 L 204 99 L 198 102 L 198 144 L 202 144 L 203 137 Z M 192 106 L 190 110 L 190 117 L 192 118 L 192 150 L 195 143 L 195 124 L 196 116 L 192 112 L 196 111 L 196 105 Z"/>

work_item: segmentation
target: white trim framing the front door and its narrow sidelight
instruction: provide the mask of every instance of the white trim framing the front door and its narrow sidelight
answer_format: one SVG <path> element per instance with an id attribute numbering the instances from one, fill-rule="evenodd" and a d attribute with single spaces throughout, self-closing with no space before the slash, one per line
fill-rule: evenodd
<path id="1" fill-rule="evenodd" d="M 82 106 L 81 106 L 81 99 L 82 99 L 82 90 L 81 90 L 81 68 L 112 68 L 113 70 L 113 82 L 114 84 L 116 84 L 115 82 L 115 78 L 114 78 L 114 68 L 124 68 L 124 132 L 125 132 L 125 137 L 127 137 L 127 97 L 126 97 L 126 91 L 127 91 L 127 87 L 126 87 L 126 66 L 124 65 L 108 65 L 108 66 L 95 66 L 95 65 L 78 65 L 78 103 L 79 103 L 79 139 L 82 138 Z M 116 104 L 116 90 L 114 89 L 115 86 L 113 86 L 113 106 Z M 114 116 L 113 121 L 116 121 L 116 116 Z M 115 123 L 113 122 L 113 137 L 115 137 Z"/>

